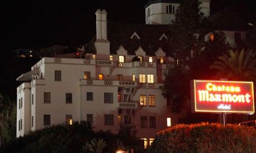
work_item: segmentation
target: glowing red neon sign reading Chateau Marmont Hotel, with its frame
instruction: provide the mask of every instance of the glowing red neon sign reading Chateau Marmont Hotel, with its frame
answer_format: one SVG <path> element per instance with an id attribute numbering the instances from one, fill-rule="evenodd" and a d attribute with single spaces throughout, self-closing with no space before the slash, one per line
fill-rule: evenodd
<path id="1" fill-rule="evenodd" d="M 192 112 L 254 113 L 253 82 L 191 80 Z"/>

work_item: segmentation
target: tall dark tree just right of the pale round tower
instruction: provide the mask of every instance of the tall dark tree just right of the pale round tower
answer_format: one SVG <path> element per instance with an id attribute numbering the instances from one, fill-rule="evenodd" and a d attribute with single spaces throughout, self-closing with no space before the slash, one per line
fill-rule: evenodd
<path id="1" fill-rule="evenodd" d="M 175 20 L 170 25 L 170 48 L 175 58 L 186 59 L 190 52 L 201 50 L 208 22 L 204 14 L 199 12 L 198 0 L 182 0 L 175 13 Z"/>

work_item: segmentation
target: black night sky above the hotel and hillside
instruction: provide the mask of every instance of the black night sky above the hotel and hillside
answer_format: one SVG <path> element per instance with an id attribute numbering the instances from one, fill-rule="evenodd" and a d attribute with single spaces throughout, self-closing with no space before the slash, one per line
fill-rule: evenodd
<path id="1" fill-rule="evenodd" d="M 87 43 L 95 34 L 95 11 L 106 9 L 111 22 L 144 23 L 144 5 L 137 1 L 8 1 L 1 4 L 2 50 Z M 211 0 L 211 14 L 229 8 L 256 23 L 253 0 Z"/>

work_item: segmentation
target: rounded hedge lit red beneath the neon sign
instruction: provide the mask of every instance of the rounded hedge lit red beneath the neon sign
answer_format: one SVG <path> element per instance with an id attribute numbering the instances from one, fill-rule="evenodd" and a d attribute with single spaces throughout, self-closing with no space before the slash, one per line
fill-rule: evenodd
<path id="1" fill-rule="evenodd" d="M 255 152 L 256 130 L 228 124 L 179 124 L 159 131 L 149 152 Z"/>

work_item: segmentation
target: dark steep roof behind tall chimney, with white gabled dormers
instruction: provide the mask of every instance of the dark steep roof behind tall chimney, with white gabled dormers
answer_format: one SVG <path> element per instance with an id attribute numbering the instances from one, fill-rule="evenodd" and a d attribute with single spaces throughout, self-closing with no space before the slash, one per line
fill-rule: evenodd
<path id="1" fill-rule="evenodd" d="M 172 55 L 169 48 L 169 41 L 166 39 L 159 40 L 165 34 L 169 37 L 169 25 L 152 25 L 152 24 L 124 24 L 112 23 L 107 24 L 107 35 L 110 41 L 110 54 L 117 54 L 116 50 L 122 45 L 127 50 L 127 54 L 135 55 L 135 51 L 141 47 L 146 55 L 155 55 L 159 47 L 166 53 Z M 136 32 L 140 39 L 132 38 Z M 94 42 L 96 37 L 85 44 L 85 50 L 89 53 L 96 53 Z"/>

